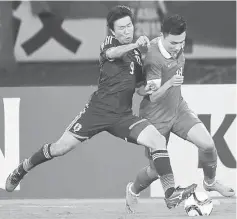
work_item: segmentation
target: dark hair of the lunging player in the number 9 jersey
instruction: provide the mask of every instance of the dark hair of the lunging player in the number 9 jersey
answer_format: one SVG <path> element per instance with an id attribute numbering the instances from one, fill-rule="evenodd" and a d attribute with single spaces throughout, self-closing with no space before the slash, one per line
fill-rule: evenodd
<path id="1" fill-rule="evenodd" d="M 107 15 L 107 25 L 111 30 L 114 30 L 114 22 L 120 18 L 129 16 L 133 21 L 133 13 L 131 9 L 125 5 L 117 5 L 113 7 Z"/>

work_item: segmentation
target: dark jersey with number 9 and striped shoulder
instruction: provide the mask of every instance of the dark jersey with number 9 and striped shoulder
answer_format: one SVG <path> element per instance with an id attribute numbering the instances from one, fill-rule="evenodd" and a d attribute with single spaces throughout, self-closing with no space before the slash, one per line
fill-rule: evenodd
<path id="1" fill-rule="evenodd" d="M 106 51 L 120 46 L 113 36 L 107 36 L 100 48 L 100 76 L 98 90 L 92 96 L 97 108 L 124 113 L 132 111 L 132 98 L 141 79 L 141 53 L 133 49 L 120 58 L 108 59 Z"/>

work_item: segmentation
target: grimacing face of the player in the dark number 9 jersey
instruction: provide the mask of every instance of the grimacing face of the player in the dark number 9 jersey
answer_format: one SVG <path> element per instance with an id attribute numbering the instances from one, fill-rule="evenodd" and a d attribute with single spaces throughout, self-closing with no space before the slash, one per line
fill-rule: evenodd
<path id="1" fill-rule="evenodd" d="M 114 22 L 114 31 L 112 31 L 112 33 L 121 44 L 131 43 L 133 41 L 134 33 L 134 26 L 131 18 L 126 16 L 116 20 Z"/>

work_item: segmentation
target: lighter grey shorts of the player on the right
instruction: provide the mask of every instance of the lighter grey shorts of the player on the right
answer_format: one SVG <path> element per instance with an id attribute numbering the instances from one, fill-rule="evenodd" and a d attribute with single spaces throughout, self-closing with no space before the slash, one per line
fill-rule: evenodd
<path id="1" fill-rule="evenodd" d="M 181 103 L 177 115 L 171 121 L 151 121 L 157 130 L 166 138 L 167 144 L 169 142 L 171 132 L 180 138 L 187 140 L 189 130 L 194 125 L 201 122 L 202 121 L 198 118 L 198 116 L 191 109 L 189 109 L 186 102 Z M 149 149 L 146 149 L 145 154 L 151 158 Z"/>

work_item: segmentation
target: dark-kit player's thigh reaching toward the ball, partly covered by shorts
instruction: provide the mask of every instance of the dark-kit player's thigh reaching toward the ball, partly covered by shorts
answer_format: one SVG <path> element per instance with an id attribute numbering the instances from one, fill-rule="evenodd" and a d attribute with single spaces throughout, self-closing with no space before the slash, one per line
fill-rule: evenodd
<path id="1" fill-rule="evenodd" d="M 124 116 L 113 127 L 114 135 L 129 142 L 157 150 L 165 147 L 165 138 L 147 120 L 134 115 Z"/>

